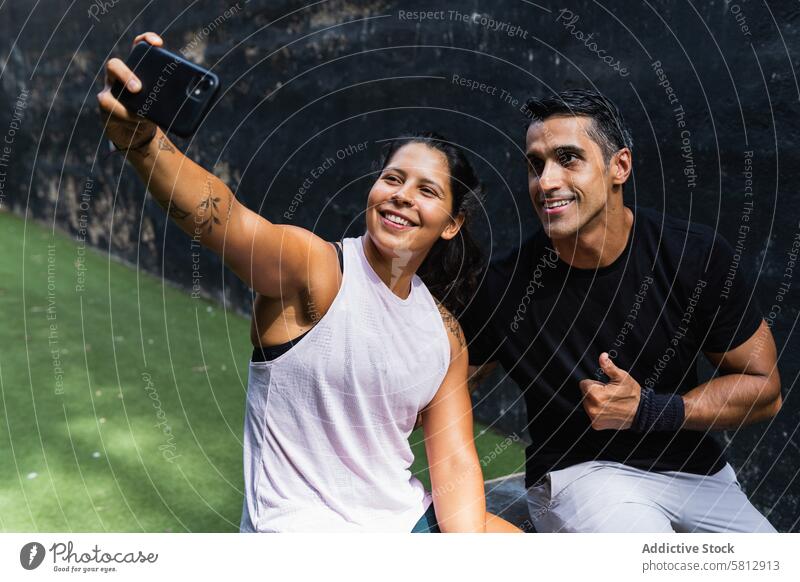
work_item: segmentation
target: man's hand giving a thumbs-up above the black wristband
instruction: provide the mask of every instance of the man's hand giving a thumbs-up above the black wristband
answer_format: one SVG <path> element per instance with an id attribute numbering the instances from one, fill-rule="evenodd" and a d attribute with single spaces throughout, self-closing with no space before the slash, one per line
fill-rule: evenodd
<path id="1" fill-rule="evenodd" d="M 578 386 L 583 392 L 583 408 L 595 430 L 624 430 L 630 428 L 642 387 L 625 370 L 620 370 L 606 352 L 600 354 L 600 367 L 611 381 L 608 384 L 595 380 L 581 380 Z"/>

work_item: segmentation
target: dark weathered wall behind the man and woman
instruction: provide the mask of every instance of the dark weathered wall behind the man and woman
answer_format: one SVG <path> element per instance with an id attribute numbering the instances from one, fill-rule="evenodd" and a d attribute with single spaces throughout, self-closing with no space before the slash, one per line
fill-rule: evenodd
<path id="1" fill-rule="evenodd" d="M 786 404 L 769 426 L 722 436 L 756 504 L 780 529 L 798 529 L 800 271 L 789 270 L 800 234 L 796 3 L 83 0 L 65 12 L 67 5 L 0 8 L 0 132 L 12 142 L 0 150 L 0 203 L 71 232 L 85 216 L 92 244 L 187 290 L 188 238 L 146 201 L 132 170 L 102 157 L 94 98 L 101 68 L 109 55 L 127 54 L 137 32 L 161 33 L 168 48 L 185 48 L 223 80 L 202 129 L 178 140 L 188 154 L 264 216 L 331 239 L 362 228 L 380 140 L 421 127 L 472 150 L 487 184 L 491 221 L 478 225 L 487 249 L 518 244 L 536 224 L 521 103 L 568 87 L 606 92 L 633 128 L 628 201 L 717 227 L 740 244 L 757 278 Z M 411 14 L 418 10 L 443 12 L 420 21 Z M 363 142 L 365 151 L 349 149 Z M 247 312 L 249 291 L 215 256 L 204 254 L 199 267 L 204 293 L 222 298 L 224 288 L 228 308 Z M 499 426 L 521 432 L 519 392 L 507 384 L 484 387 L 478 415 L 504 413 Z"/>

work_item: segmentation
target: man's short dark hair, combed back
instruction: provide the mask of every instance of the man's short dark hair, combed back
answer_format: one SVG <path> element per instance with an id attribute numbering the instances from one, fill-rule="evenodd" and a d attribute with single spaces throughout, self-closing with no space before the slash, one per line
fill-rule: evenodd
<path id="1" fill-rule="evenodd" d="M 614 103 L 592 89 L 570 89 L 550 97 L 531 98 L 525 104 L 531 123 L 548 117 L 589 117 L 588 133 L 603 152 L 606 163 L 622 148 L 633 150 L 631 132 Z"/>

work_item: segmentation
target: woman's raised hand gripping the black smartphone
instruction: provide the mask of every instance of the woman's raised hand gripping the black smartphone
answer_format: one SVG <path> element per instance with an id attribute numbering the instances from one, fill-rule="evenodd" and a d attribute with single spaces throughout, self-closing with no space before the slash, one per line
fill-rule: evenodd
<path id="1" fill-rule="evenodd" d="M 154 32 L 145 32 L 133 40 L 147 42 L 153 46 L 162 46 L 164 41 Z M 158 127 L 152 121 L 139 117 L 135 112 L 129 111 L 113 95 L 111 88 L 115 81 L 125 85 L 125 88 L 138 93 L 142 89 L 141 81 L 134 75 L 128 66 L 118 58 L 109 59 L 106 63 L 105 87 L 97 94 L 97 103 L 105 123 L 106 137 L 110 139 L 117 149 L 136 151 L 150 144 L 158 133 Z"/>

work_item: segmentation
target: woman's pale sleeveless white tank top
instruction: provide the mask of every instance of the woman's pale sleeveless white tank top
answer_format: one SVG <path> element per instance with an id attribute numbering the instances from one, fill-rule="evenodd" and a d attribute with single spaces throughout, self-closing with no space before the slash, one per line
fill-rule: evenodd
<path id="1" fill-rule="evenodd" d="M 344 239 L 339 292 L 303 339 L 250 362 L 242 532 L 410 532 L 431 503 L 408 437 L 447 372 L 447 332 L 422 280 L 401 299 L 363 245 Z"/>

